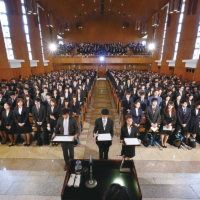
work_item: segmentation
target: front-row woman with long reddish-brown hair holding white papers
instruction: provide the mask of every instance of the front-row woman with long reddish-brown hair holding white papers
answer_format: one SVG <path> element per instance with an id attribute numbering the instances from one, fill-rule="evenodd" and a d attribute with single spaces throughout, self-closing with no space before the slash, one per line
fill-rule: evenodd
<path id="1" fill-rule="evenodd" d="M 172 101 L 169 101 L 167 106 L 163 109 L 161 119 L 162 119 L 160 125 L 161 146 L 163 148 L 167 148 L 166 142 L 168 140 L 169 135 L 172 134 L 172 130 L 164 130 L 163 127 L 172 129 L 173 124 L 176 122 L 176 109 Z"/>

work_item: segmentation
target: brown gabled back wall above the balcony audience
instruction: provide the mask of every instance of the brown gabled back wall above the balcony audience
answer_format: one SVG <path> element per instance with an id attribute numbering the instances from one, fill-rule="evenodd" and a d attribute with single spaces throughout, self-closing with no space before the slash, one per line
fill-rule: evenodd
<path id="1" fill-rule="evenodd" d="M 141 31 L 135 31 L 134 24 L 129 28 L 122 28 L 123 21 L 105 15 L 82 22 L 83 28 L 77 25 L 70 26 L 70 32 L 65 33 L 65 42 L 137 42 Z"/>

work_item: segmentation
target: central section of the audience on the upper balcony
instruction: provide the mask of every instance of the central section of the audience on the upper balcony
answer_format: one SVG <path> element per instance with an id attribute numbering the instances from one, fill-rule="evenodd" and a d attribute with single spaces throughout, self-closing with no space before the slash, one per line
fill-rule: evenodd
<path id="1" fill-rule="evenodd" d="M 127 47 L 122 43 L 82 43 L 77 48 L 77 55 L 126 55 Z"/>

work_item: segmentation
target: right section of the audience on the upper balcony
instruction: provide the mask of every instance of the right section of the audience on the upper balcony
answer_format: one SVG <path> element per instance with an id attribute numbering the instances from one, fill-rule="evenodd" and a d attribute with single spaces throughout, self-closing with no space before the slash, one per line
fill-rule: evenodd
<path id="1" fill-rule="evenodd" d="M 142 43 L 129 43 L 129 49 L 133 52 L 134 55 L 149 55 L 149 50 L 147 49 L 146 45 Z"/>

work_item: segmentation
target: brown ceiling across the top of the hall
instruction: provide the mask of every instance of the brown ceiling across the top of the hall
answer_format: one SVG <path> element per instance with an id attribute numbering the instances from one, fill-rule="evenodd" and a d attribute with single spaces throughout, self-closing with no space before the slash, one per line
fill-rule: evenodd
<path id="1" fill-rule="evenodd" d="M 103 15 L 135 23 L 147 20 L 169 0 L 37 0 L 58 23 L 70 25 Z"/>

